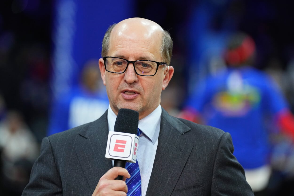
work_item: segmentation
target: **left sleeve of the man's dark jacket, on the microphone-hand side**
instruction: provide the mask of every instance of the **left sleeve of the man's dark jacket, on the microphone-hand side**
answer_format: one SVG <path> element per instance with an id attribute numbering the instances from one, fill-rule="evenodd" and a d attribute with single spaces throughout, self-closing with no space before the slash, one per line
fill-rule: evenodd
<path id="1" fill-rule="evenodd" d="M 34 163 L 30 181 L 22 196 L 62 196 L 62 185 L 48 137 L 41 143 L 41 154 Z"/>

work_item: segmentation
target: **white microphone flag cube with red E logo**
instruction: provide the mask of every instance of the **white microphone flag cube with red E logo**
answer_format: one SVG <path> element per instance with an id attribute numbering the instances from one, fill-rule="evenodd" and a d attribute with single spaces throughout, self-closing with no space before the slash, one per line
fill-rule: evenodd
<path id="1" fill-rule="evenodd" d="M 110 131 L 105 157 L 136 163 L 139 139 L 136 134 Z"/>

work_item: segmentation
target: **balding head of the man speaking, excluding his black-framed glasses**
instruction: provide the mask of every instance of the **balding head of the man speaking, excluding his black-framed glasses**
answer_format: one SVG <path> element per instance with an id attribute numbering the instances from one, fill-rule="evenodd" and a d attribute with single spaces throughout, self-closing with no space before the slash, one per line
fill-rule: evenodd
<path id="1" fill-rule="evenodd" d="M 99 59 L 101 77 L 106 85 L 111 109 L 116 114 L 121 108 L 133 109 L 139 112 L 139 119 L 142 119 L 158 107 L 161 91 L 173 76 L 173 67 L 168 66 L 172 54 L 172 40 L 168 32 L 153 21 L 130 18 L 111 26 L 102 45 L 103 57 L 120 57 L 128 61 L 151 60 L 167 64 L 158 64 L 154 76 L 141 76 L 136 74 L 133 63 L 129 63 L 126 71 L 121 74 L 107 72 L 104 60 Z"/>

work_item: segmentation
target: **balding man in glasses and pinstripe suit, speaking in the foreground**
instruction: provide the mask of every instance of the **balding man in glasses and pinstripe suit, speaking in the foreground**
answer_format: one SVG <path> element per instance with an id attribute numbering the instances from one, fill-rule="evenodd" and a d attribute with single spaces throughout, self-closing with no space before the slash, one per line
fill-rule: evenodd
<path id="1" fill-rule="evenodd" d="M 143 131 L 139 195 L 253 195 L 232 155 L 230 134 L 161 108 L 161 91 L 174 72 L 168 66 L 171 52 L 171 37 L 153 21 L 131 18 L 111 26 L 99 60 L 108 111 L 94 122 L 45 137 L 23 196 L 126 195 L 126 183 L 114 179 L 129 178 L 128 170 L 112 168 L 104 157 L 121 108 L 139 112 Z"/>

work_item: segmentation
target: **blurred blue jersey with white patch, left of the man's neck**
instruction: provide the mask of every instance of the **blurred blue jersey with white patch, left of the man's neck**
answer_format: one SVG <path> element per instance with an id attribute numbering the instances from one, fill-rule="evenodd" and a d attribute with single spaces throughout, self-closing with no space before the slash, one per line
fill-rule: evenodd
<path id="1" fill-rule="evenodd" d="M 92 122 L 104 114 L 108 105 L 104 91 L 93 93 L 82 87 L 73 88 L 53 103 L 47 135 Z"/>

